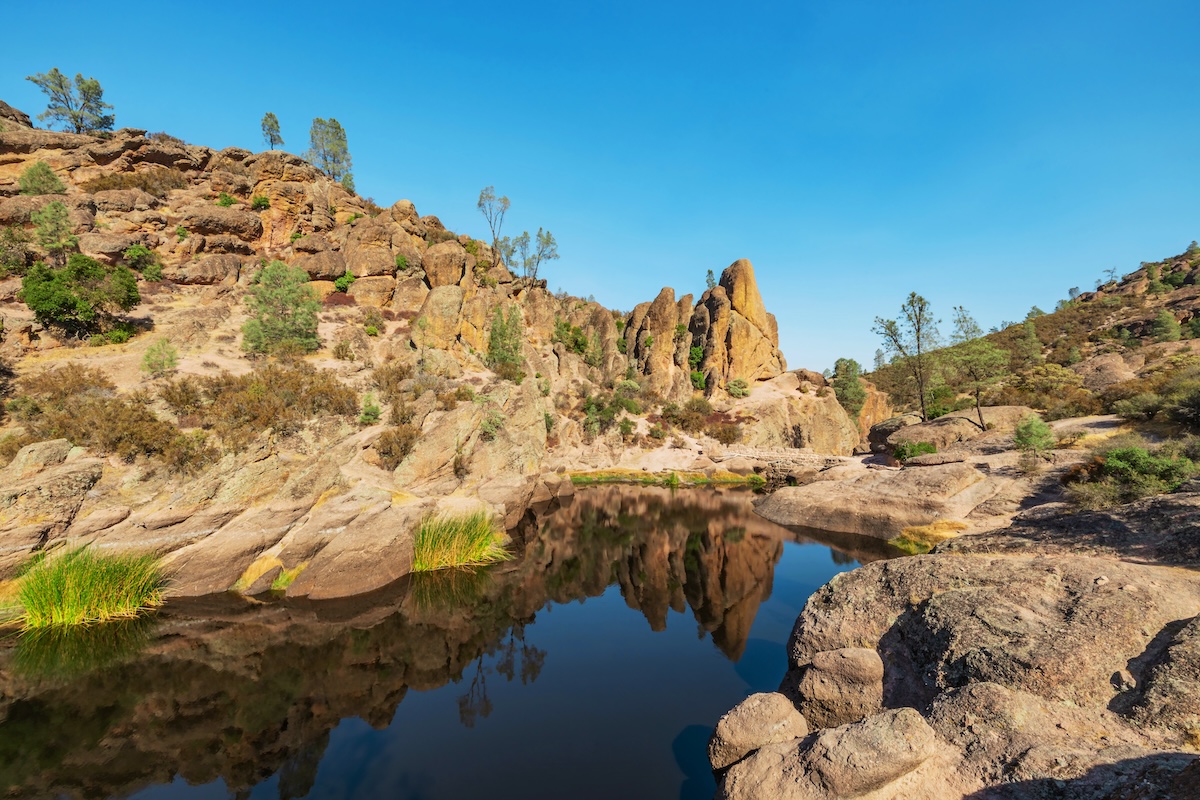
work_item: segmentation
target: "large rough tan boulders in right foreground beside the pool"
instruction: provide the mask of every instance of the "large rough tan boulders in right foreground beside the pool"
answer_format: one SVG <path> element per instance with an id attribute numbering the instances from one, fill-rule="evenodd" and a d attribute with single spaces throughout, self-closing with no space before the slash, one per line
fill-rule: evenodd
<path id="1" fill-rule="evenodd" d="M 731 710 L 709 757 L 731 800 L 1193 800 L 1198 751 L 1193 482 L 839 576 L 779 692 Z"/>

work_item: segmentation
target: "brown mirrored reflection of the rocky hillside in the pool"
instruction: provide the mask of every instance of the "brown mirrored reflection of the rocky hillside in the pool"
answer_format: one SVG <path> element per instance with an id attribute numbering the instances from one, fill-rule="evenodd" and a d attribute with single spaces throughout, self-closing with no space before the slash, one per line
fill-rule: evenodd
<path id="1" fill-rule="evenodd" d="M 338 721 L 386 727 L 409 688 L 450 681 L 464 723 L 486 716 L 488 679 L 532 682 L 554 657 L 527 640 L 546 603 L 613 584 L 655 630 L 690 608 L 737 658 L 788 535 L 742 493 L 605 487 L 529 518 L 523 553 L 491 570 L 353 603 L 173 602 L 152 638 L 92 662 L 0 642 L 0 787 L 98 798 L 178 775 L 238 793 L 280 772 L 302 796 Z"/>

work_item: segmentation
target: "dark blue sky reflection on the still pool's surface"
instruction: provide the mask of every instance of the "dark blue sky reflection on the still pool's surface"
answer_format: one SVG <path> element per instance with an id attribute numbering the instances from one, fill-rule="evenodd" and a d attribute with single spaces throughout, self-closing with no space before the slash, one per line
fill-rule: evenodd
<path id="1" fill-rule="evenodd" d="M 715 789 L 706 758 L 712 726 L 746 694 L 778 687 L 786 669 L 784 645 L 804 602 L 853 566 L 836 564 L 824 546 L 787 543 L 772 596 L 760 607 L 737 663 L 720 652 L 690 609 L 670 613 L 666 630 L 655 633 L 617 587 L 582 602 L 547 604 L 523 631 L 524 645 L 545 652 L 536 680 L 521 681 L 516 638 L 514 661 L 504 668 L 506 634 L 461 681 L 410 691 L 385 729 L 343 720 L 302 796 L 433 800 L 486 792 L 500 799 L 707 800 Z M 480 708 L 480 686 L 486 708 Z M 461 702 L 469 693 L 475 714 L 467 727 Z M 282 775 L 288 771 L 242 796 L 276 800 L 308 789 L 308 781 Z M 133 796 L 230 795 L 220 781 L 202 787 L 176 781 Z"/>

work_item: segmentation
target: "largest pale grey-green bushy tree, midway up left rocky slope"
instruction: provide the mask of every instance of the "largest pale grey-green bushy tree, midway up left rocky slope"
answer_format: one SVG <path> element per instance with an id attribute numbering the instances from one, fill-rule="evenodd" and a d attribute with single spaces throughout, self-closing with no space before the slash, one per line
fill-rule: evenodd
<path id="1" fill-rule="evenodd" d="M 277 353 L 319 347 L 317 312 L 320 302 L 307 273 L 283 261 L 271 261 L 258 275 L 246 296 L 253 318 L 242 326 L 242 347 L 251 353 Z"/>

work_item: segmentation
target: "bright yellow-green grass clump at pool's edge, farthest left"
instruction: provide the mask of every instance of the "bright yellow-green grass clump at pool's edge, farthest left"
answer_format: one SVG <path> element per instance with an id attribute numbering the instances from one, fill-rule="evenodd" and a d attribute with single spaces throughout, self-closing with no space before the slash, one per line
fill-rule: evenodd
<path id="1" fill-rule="evenodd" d="M 128 619 L 163 602 L 152 555 L 100 554 L 86 547 L 37 558 L 19 578 L 26 630 Z"/>

